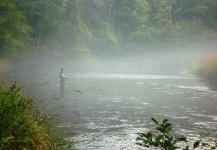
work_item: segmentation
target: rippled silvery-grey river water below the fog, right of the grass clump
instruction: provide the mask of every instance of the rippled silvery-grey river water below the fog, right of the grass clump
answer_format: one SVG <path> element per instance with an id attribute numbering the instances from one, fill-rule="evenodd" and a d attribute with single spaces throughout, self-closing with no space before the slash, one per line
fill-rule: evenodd
<path id="1" fill-rule="evenodd" d="M 108 73 L 70 77 L 62 100 L 70 113 L 59 128 L 78 149 L 140 149 L 135 133 L 153 129 L 151 117 L 169 119 L 176 133 L 190 140 L 210 141 L 217 135 L 217 92 L 197 78 Z"/>

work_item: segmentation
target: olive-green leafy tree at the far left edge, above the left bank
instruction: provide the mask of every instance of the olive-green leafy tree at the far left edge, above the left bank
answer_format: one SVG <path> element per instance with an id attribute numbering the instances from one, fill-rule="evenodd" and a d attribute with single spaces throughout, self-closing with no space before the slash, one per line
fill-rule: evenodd
<path id="1" fill-rule="evenodd" d="M 27 44 L 29 29 L 16 0 L 0 0 L 0 55 L 17 56 Z"/>

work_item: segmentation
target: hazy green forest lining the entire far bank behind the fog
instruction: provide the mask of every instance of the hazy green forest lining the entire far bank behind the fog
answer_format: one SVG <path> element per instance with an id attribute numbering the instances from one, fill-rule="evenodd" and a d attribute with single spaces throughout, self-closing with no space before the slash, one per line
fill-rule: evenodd
<path id="1" fill-rule="evenodd" d="M 214 0 L 0 0 L 0 55 L 116 56 L 214 39 Z"/>

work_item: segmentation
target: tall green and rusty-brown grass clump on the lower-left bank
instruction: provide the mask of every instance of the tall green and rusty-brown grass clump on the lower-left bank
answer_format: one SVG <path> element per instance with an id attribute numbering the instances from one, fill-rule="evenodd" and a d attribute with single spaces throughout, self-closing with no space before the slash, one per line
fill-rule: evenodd
<path id="1" fill-rule="evenodd" d="M 68 150 L 72 142 L 54 132 L 55 115 L 47 116 L 36 100 L 20 93 L 16 84 L 0 86 L 1 150 Z"/>

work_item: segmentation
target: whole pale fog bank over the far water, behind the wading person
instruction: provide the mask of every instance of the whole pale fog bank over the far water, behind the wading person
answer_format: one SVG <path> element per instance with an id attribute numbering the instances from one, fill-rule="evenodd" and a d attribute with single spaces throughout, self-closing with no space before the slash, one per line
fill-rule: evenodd
<path id="1" fill-rule="evenodd" d="M 76 94 L 75 90 L 83 91 L 79 85 L 74 84 L 77 82 L 76 76 L 79 74 L 160 75 L 197 78 L 188 72 L 189 67 L 192 64 L 200 64 L 205 56 L 215 52 L 215 46 L 213 43 L 196 43 L 186 48 L 150 49 L 135 51 L 135 53 L 132 49 L 114 56 L 87 56 L 76 59 L 66 55 L 51 59 L 36 57 L 32 61 L 21 63 L 4 78 L 24 85 L 23 90 L 26 93 L 38 95 L 39 98 L 46 101 L 46 99 L 52 99 L 53 95 L 59 97 L 61 68 L 64 68 L 64 74 L 69 76 L 66 86 L 72 88 L 67 93 L 72 92 L 71 96 L 73 96 Z M 102 86 L 104 86 L 103 82 Z"/>

